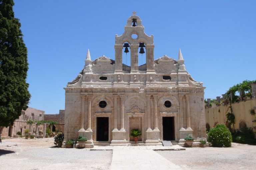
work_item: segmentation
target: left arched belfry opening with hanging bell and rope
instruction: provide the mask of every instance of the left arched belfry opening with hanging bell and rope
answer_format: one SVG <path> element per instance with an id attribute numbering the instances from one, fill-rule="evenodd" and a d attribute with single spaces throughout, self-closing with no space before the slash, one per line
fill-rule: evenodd
<path id="1" fill-rule="evenodd" d="M 123 43 L 123 63 L 123 70 L 131 71 L 131 49 L 129 42 Z"/>

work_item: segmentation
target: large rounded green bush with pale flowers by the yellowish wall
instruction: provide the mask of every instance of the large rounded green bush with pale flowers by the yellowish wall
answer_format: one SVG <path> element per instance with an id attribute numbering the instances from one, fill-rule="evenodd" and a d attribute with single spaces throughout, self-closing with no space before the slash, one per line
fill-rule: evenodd
<path id="1" fill-rule="evenodd" d="M 213 147 L 231 147 L 231 132 L 225 125 L 217 124 L 210 129 L 208 142 L 211 142 Z"/>

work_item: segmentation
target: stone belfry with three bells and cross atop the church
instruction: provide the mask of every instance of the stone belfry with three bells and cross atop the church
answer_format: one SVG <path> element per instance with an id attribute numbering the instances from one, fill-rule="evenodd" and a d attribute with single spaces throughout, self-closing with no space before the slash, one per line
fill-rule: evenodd
<path id="1" fill-rule="evenodd" d="M 136 37 L 136 38 L 133 38 Z M 144 32 L 144 26 L 140 17 L 133 11 L 133 15 L 127 20 L 124 27 L 124 33 L 121 36 L 115 37 L 115 73 L 123 72 L 122 50 L 124 52 L 131 52 L 131 73 L 139 71 L 138 53 L 146 53 L 147 73 L 154 73 L 154 36 L 148 36 Z M 128 43 L 127 43 L 128 42 Z M 128 49 L 130 47 L 130 50 Z M 138 52 L 138 49 L 140 51 Z M 144 51 L 144 48 L 146 52 Z"/>

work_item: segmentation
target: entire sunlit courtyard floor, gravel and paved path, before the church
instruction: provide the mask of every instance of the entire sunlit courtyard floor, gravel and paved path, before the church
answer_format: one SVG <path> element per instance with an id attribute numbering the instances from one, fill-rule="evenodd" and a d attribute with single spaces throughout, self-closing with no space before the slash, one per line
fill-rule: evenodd
<path id="1" fill-rule="evenodd" d="M 153 146 L 95 146 L 91 150 L 57 148 L 53 137 L 2 141 L 0 164 L 5 170 L 131 169 L 132 166 L 136 166 L 134 169 L 161 169 L 148 161 L 150 158 L 161 160 L 162 164 L 169 164 L 174 169 L 255 169 L 255 146 L 238 143 L 232 143 L 230 148 L 193 147 L 186 150 L 179 146 L 174 146 L 175 150 L 159 150 L 165 147 L 155 146 L 158 151 L 153 151 Z M 148 155 L 140 156 L 140 153 Z M 114 168 L 112 156 L 127 161 L 115 162 Z"/>

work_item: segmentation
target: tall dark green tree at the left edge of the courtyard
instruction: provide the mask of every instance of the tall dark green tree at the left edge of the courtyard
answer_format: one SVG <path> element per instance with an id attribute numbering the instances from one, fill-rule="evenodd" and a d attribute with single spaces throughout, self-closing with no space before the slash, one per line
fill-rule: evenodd
<path id="1" fill-rule="evenodd" d="M 0 0 L 0 142 L 3 128 L 13 125 L 30 99 L 27 48 L 13 5 L 13 0 Z"/>

